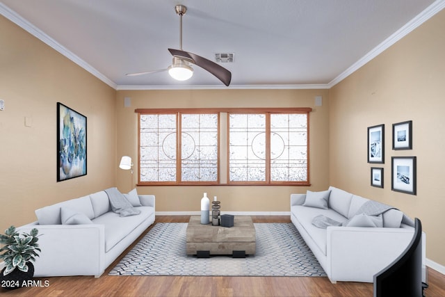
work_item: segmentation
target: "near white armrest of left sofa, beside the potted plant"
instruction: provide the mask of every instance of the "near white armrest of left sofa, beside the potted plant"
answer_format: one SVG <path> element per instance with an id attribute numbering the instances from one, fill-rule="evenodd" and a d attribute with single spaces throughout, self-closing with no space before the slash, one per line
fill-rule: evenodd
<path id="1" fill-rule="evenodd" d="M 39 230 L 42 252 L 35 258 L 35 277 L 95 275 L 99 277 L 105 265 L 104 225 L 38 225 L 34 222 L 17 230 Z"/>

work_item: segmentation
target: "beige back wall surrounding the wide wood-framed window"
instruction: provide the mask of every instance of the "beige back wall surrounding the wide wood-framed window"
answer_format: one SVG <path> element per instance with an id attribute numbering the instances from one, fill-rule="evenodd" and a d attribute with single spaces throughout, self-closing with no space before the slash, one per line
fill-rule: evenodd
<path id="1" fill-rule="evenodd" d="M 311 107 L 309 114 L 310 187 L 313 191 L 329 186 L 327 157 L 328 90 L 120 90 L 116 96 L 118 114 L 118 156 L 138 156 L 138 122 L 135 109 L 224 108 L 224 107 Z M 323 96 L 323 105 L 314 106 Z M 131 106 L 124 107 L 124 97 Z M 137 182 L 137 170 L 133 183 Z M 130 172 L 119 170 L 118 188 L 128 191 Z M 305 186 L 139 186 L 138 193 L 156 195 L 156 211 L 200 211 L 202 193 L 218 196 L 223 211 L 289 211 L 289 195 L 305 193 Z"/>

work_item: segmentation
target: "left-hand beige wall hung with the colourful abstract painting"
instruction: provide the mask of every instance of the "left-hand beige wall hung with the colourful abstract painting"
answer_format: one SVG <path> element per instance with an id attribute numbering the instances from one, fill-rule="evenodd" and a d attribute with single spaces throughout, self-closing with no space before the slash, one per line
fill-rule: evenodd
<path id="1" fill-rule="evenodd" d="M 0 230 L 115 185 L 115 90 L 0 16 Z M 86 115 L 88 174 L 56 182 L 56 102 Z M 25 127 L 25 117 L 31 127 Z"/>

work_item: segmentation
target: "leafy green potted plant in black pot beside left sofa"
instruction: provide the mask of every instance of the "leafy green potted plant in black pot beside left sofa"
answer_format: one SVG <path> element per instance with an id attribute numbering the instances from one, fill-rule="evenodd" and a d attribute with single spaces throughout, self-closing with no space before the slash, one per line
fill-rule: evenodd
<path id="1" fill-rule="evenodd" d="M 0 259 L 3 259 L 5 268 L 0 273 L 1 287 L 6 289 L 18 289 L 32 280 L 34 266 L 38 252 L 38 230 L 33 229 L 30 233 L 19 234 L 14 226 L 0 234 Z M 24 283 L 25 282 L 25 283 Z"/>

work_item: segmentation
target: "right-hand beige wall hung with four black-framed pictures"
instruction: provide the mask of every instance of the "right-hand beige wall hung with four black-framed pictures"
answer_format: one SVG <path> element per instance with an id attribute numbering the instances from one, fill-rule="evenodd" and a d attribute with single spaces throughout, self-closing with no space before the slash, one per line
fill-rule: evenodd
<path id="1" fill-rule="evenodd" d="M 330 90 L 330 183 L 422 221 L 427 257 L 445 265 L 445 10 Z M 392 124 L 412 120 L 413 149 L 392 150 Z M 367 127 L 385 124 L 385 164 L 366 160 Z M 391 156 L 417 157 L 417 195 L 391 191 Z M 371 166 L 385 188 L 370 186 Z"/>

